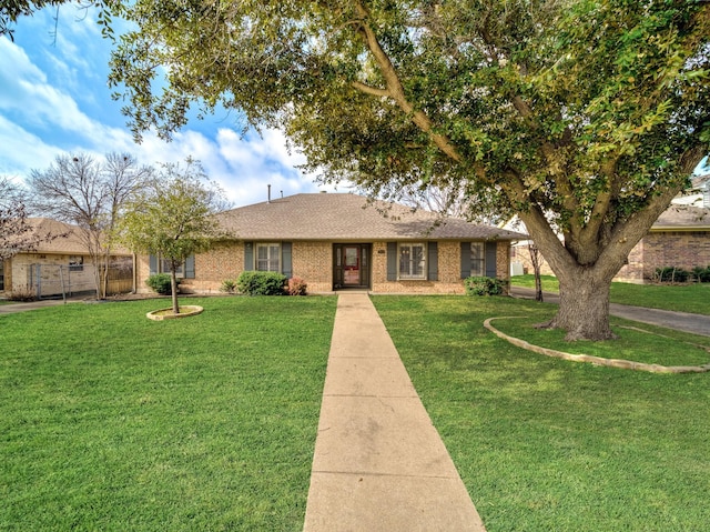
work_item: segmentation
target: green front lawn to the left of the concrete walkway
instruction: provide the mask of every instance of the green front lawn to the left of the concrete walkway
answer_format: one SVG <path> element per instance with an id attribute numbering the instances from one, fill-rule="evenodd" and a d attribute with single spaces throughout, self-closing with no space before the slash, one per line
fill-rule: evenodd
<path id="1" fill-rule="evenodd" d="M 0 317 L 0 530 L 303 528 L 334 298 Z"/>

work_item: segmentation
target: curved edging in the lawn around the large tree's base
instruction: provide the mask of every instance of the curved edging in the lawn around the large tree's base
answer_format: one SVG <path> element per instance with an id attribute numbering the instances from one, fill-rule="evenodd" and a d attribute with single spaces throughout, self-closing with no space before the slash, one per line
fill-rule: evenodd
<path id="1" fill-rule="evenodd" d="M 488 318 L 484 321 L 484 327 L 488 329 L 490 332 L 496 334 L 498 338 L 510 342 L 518 348 L 526 349 L 528 351 L 532 351 L 535 353 L 545 354 L 546 357 L 555 357 L 557 359 L 570 360 L 572 362 L 589 362 L 591 364 L 597 365 L 606 365 L 609 368 L 619 368 L 621 370 L 636 370 L 636 371 L 648 371 L 651 373 L 704 373 L 710 371 L 710 363 L 704 365 L 660 365 L 660 364 L 646 364 L 643 362 L 633 362 L 631 360 L 622 360 L 622 359 L 605 359 L 601 357 L 594 357 L 591 354 L 572 354 L 566 353 L 564 351 L 555 351 L 554 349 L 541 348 L 539 345 L 532 345 L 525 340 L 520 340 L 519 338 L 509 337 L 505 332 L 499 331 L 495 327 L 490 324 L 493 320 L 501 320 L 501 319 L 510 319 L 510 318 L 523 318 L 519 315 L 500 315 L 497 318 Z"/>

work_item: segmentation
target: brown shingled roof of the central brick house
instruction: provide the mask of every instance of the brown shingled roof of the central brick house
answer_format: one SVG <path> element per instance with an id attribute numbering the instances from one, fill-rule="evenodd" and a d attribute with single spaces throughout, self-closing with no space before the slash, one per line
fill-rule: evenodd
<path id="1" fill-rule="evenodd" d="M 240 240 L 520 240 L 526 234 L 479 225 L 349 193 L 296 194 L 220 214 Z"/>

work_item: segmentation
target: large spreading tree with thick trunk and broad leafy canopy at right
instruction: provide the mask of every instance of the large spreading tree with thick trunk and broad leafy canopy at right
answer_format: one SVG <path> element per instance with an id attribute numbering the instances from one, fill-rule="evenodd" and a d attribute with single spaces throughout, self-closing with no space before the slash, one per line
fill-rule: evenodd
<path id="1" fill-rule="evenodd" d="M 136 135 L 191 104 L 278 126 L 323 179 L 464 185 L 560 282 L 552 327 L 611 338 L 609 287 L 709 151 L 701 0 L 135 0 L 111 81 Z M 562 239 L 558 238 L 562 235 Z"/>

